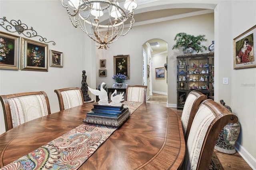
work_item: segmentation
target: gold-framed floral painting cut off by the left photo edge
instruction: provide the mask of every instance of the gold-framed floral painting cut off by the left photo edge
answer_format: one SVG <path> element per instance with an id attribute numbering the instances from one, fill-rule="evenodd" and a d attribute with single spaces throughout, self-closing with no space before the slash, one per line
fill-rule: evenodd
<path id="1" fill-rule="evenodd" d="M 20 38 L 0 32 L 0 69 L 20 69 Z"/>

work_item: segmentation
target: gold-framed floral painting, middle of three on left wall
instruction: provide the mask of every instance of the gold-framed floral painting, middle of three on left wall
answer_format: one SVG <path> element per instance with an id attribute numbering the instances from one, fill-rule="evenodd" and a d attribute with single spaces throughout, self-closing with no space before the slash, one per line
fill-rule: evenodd
<path id="1" fill-rule="evenodd" d="M 22 70 L 48 71 L 48 45 L 26 38 L 21 40 Z"/>

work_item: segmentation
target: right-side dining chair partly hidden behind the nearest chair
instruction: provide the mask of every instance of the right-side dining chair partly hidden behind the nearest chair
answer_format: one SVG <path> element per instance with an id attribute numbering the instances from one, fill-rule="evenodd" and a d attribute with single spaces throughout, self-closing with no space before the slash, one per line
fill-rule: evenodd
<path id="1" fill-rule="evenodd" d="M 190 131 L 190 127 L 192 125 L 193 119 L 196 115 L 196 111 L 198 106 L 202 101 L 207 99 L 207 96 L 198 91 L 191 91 L 185 101 L 184 108 L 181 115 L 181 123 L 183 134 L 185 138 L 185 143 L 188 140 L 188 134 Z"/>

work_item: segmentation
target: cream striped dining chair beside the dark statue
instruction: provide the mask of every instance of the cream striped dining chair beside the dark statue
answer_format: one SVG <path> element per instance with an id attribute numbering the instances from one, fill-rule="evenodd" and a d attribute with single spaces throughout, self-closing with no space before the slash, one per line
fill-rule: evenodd
<path id="1" fill-rule="evenodd" d="M 58 96 L 60 111 L 84 104 L 82 90 L 79 87 L 55 89 Z"/>

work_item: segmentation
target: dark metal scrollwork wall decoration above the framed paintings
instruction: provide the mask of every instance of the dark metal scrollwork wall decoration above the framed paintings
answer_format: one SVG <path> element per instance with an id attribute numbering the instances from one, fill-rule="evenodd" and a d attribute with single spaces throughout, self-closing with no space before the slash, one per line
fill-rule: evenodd
<path id="1" fill-rule="evenodd" d="M 19 34 L 23 34 L 24 36 L 28 38 L 32 37 L 40 37 L 40 42 L 50 43 L 52 42 L 53 45 L 55 45 L 54 41 L 47 42 L 46 38 L 43 38 L 42 36 L 38 36 L 37 32 L 31 27 L 28 29 L 28 26 L 26 24 L 21 23 L 20 20 L 15 21 L 11 20 L 10 22 L 6 20 L 6 17 L 0 18 L 0 26 L 2 26 L 5 30 L 8 32 L 18 32 Z"/>

